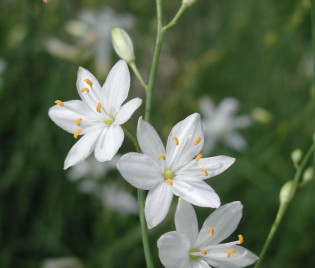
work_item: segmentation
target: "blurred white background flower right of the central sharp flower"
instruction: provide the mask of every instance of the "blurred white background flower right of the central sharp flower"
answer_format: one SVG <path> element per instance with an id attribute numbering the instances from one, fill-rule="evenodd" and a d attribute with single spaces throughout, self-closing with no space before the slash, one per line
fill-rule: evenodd
<path id="1" fill-rule="evenodd" d="M 236 116 L 239 109 L 237 99 L 225 98 L 215 107 L 210 98 L 204 97 L 200 100 L 199 107 L 203 116 L 205 152 L 211 152 L 219 141 L 238 152 L 246 149 L 246 140 L 237 130 L 249 127 L 252 120 L 248 115 Z"/>

